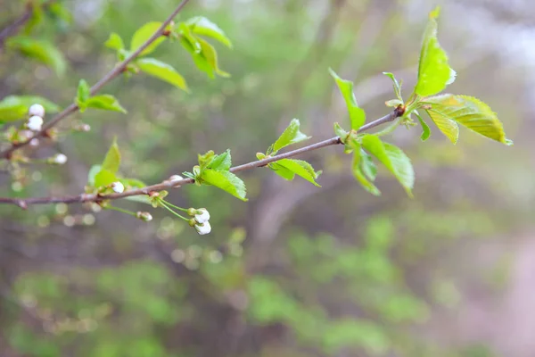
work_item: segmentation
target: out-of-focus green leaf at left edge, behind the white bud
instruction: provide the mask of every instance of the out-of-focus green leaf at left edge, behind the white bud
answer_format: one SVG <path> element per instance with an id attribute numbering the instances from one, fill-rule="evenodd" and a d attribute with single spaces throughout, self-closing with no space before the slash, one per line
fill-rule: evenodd
<path id="1" fill-rule="evenodd" d="M 8 95 L 0 101 L 0 122 L 20 120 L 28 115 L 32 104 L 41 104 L 45 112 L 59 112 L 61 108 L 37 95 Z"/>

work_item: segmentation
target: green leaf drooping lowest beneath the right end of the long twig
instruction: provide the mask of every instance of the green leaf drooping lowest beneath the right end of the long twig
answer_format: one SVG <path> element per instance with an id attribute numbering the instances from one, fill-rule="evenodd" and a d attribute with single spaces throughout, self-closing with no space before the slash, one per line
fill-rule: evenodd
<path id="1" fill-rule="evenodd" d="M 407 155 L 397 146 L 383 143 L 381 139 L 374 135 L 362 137 L 362 145 L 373 154 L 384 166 L 398 179 L 407 195 L 412 197 L 412 188 L 415 183 L 415 172 Z"/>

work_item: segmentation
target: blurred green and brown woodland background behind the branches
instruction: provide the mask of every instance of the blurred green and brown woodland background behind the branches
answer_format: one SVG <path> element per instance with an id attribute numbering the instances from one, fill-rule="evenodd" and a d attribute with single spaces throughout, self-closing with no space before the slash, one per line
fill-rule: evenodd
<path id="1" fill-rule="evenodd" d="M 128 41 L 177 3 L 66 1 L 70 24 L 45 21 L 34 31 L 65 54 L 65 74 L 4 51 L 0 98 L 70 104 L 79 79 L 93 84 L 114 65 L 103 46 L 111 31 Z M 332 137 L 346 109 L 328 67 L 356 82 L 368 120 L 381 117 L 394 96 L 381 72 L 403 79 L 408 95 L 433 5 L 192 0 L 178 20 L 202 15 L 226 31 L 234 49 L 216 46 L 232 77 L 208 79 L 166 43 L 155 54 L 191 94 L 141 75 L 115 79 L 103 93 L 127 115 L 71 116 L 62 124 L 69 135 L 34 153 L 69 162 L 26 168 L 22 190 L 0 173 L 0 193 L 76 195 L 114 136 L 121 172 L 149 183 L 191 170 L 210 149 L 252 161 L 292 118 L 313 140 Z M 0 355 L 535 355 L 534 9 L 528 0 L 442 5 L 439 38 L 458 72 L 448 91 L 490 104 L 514 146 L 467 130 L 451 145 L 433 128 L 421 143 L 417 127 L 397 129 L 390 141 L 415 164 L 413 200 L 387 175 L 381 197 L 367 194 L 342 147 L 305 156 L 324 170 L 322 188 L 259 169 L 241 175 L 248 203 L 214 187 L 173 190 L 170 202 L 210 211 L 203 237 L 162 210 L 150 209 L 154 220 L 144 223 L 81 205 L 0 207 Z M 22 1 L 1 2 L 1 28 L 23 11 Z M 71 133 L 82 121 L 91 131 Z"/>

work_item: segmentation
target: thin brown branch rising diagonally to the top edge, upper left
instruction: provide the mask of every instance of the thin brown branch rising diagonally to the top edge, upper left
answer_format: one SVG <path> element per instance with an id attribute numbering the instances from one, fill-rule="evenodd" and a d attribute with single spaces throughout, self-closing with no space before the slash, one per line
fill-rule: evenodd
<path id="1" fill-rule="evenodd" d="M 113 70 L 109 71 L 102 79 L 100 79 L 98 82 L 95 83 L 95 86 L 91 87 L 91 95 L 95 95 L 99 90 L 101 90 L 108 82 L 111 81 L 111 79 L 114 79 L 115 77 L 119 76 L 120 73 L 125 71 L 125 69 L 128 66 L 128 63 L 134 61 L 136 57 L 141 54 L 145 48 L 150 46 L 152 42 L 154 42 L 158 37 L 161 37 L 164 29 L 169 25 L 171 21 L 177 16 L 177 13 L 180 12 L 185 4 L 187 4 L 189 0 L 182 0 L 180 4 L 178 4 L 175 11 L 173 11 L 169 17 L 161 23 L 161 26 L 159 29 L 157 29 L 152 36 L 147 39 L 142 46 L 137 48 L 137 50 L 130 54 L 123 62 L 120 62 Z M 65 108 L 62 112 L 57 114 L 52 120 L 45 123 L 43 126 L 43 129 L 39 132 L 37 132 L 33 137 L 29 137 L 28 140 L 22 141 L 21 143 L 12 144 L 9 148 L 5 149 L 3 152 L 0 152 L 0 157 L 9 160 L 12 156 L 12 153 L 15 150 L 20 149 L 23 146 L 29 145 L 29 142 L 36 137 L 46 137 L 48 130 L 51 129 L 53 126 L 55 126 L 58 122 L 68 117 L 73 112 L 78 111 L 78 105 L 76 104 L 70 104 L 67 108 Z"/>

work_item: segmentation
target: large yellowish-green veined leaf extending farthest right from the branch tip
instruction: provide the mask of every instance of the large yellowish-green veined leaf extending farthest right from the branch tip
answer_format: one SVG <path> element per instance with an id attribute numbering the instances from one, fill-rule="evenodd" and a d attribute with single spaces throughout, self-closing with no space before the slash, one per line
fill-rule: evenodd
<path id="1" fill-rule="evenodd" d="M 492 112 L 489 105 L 473 96 L 436 95 L 425 98 L 421 103 L 424 104 L 424 108 L 428 108 L 426 112 L 440 130 L 442 129 L 437 119 L 455 120 L 454 123 L 459 123 L 483 137 L 489 137 L 506 145 L 513 144 L 511 140 L 506 138 L 503 125 L 498 120 L 496 113 Z M 457 124 L 455 125 L 457 126 Z M 455 144 L 455 141 L 453 142 Z"/>

